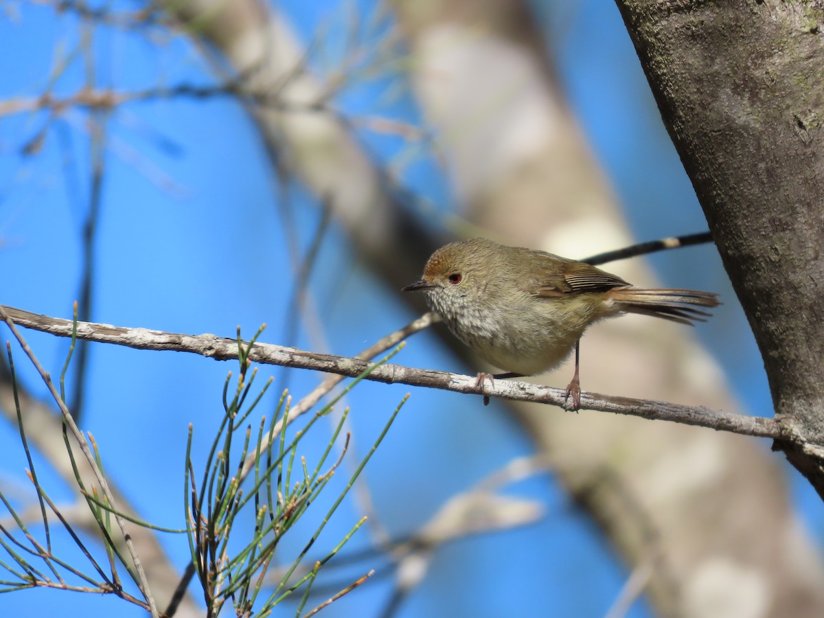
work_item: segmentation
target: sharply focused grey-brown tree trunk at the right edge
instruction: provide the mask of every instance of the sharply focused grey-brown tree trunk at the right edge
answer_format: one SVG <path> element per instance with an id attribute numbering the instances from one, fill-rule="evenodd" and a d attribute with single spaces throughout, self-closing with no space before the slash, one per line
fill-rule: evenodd
<path id="1" fill-rule="evenodd" d="M 618 2 L 761 349 L 779 442 L 824 496 L 821 2 Z"/>

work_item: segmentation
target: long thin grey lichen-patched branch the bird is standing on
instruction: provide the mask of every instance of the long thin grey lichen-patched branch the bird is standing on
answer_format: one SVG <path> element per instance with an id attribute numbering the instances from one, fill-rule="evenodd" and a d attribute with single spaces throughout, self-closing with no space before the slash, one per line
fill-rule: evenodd
<path id="1" fill-rule="evenodd" d="M 7 321 L 61 337 L 72 335 L 72 321 L 40 316 L 30 311 L 0 305 L 0 316 L 7 314 Z M 420 330 L 420 329 L 418 329 Z M 414 330 L 416 332 L 417 330 Z M 411 334 L 411 333 L 409 333 Z M 124 345 L 135 349 L 168 350 L 200 354 L 216 360 L 237 359 L 237 339 L 216 335 L 183 335 L 161 330 L 124 328 L 106 324 L 77 322 L 77 339 L 98 343 Z M 340 376 L 358 377 L 369 366 L 361 358 L 335 356 L 307 352 L 296 348 L 284 348 L 274 344 L 255 344 L 249 353 L 254 363 L 314 369 Z M 508 400 L 534 401 L 536 403 L 564 407 L 564 389 L 541 386 L 529 382 L 488 380 L 479 382 L 475 376 L 416 369 L 387 363 L 375 369 L 368 380 L 388 384 L 428 386 L 443 391 L 455 391 L 472 395 L 500 397 Z M 631 399 L 630 397 L 606 396 L 598 393 L 581 393 L 581 408 L 614 414 L 629 414 L 644 419 L 668 420 L 674 423 L 696 425 L 718 431 L 741 433 L 759 438 L 793 439 L 789 432 L 775 420 L 759 416 L 734 414 L 713 410 L 705 406 L 674 404 L 667 401 Z"/>

